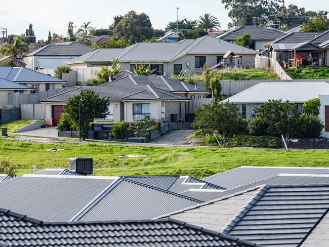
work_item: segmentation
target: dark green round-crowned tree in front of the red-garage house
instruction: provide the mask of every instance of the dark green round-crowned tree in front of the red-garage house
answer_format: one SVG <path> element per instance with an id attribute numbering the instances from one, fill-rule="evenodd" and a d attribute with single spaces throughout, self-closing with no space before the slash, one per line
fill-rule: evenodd
<path id="1" fill-rule="evenodd" d="M 80 105 L 80 108 L 79 108 Z M 80 109 L 80 128 L 81 138 L 83 140 L 88 136 L 90 123 L 95 118 L 105 118 L 108 114 L 110 100 L 105 97 L 100 97 L 94 90 L 81 90 L 79 95 L 74 95 L 69 98 L 64 106 L 77 129 L 79 129 L 79 109 Z M 79 130 L 78 130 L 79 132 Z"/>

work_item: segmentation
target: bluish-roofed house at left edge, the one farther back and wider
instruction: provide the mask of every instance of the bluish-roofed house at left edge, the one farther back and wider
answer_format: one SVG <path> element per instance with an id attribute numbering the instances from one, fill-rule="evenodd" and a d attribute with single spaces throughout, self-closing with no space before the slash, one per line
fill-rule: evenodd
<path id="1" fill-rule="evenodd" d="M 32 93 L 62 88 L 66 81 L 24 67 L 0 67 L 0 78 L 32 88 Z"/>

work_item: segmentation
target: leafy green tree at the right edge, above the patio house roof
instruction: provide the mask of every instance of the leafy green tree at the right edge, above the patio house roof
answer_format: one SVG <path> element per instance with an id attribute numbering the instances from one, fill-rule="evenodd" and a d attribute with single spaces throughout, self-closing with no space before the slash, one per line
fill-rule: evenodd
<path id="1" fill-rule="evenodd" d="M 301 25 L 302 32 L 324 32 L 329 29 L 329 19 L 327 11 L 319 11 L 315 17 L 306 24 Z"/>

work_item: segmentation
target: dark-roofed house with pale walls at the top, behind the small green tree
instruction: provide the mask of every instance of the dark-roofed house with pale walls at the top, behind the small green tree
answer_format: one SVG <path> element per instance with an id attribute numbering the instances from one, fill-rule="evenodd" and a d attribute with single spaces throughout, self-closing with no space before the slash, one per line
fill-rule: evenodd
<path id="1" fill-rule="evenodd" d="M 218 38 L 235 44 L 236 38 L 245 33 L 249 33 L 251 35 L 251 48 L 254 50 L 265 50 L 266 44 L 286 35 L 285 32 L 275 28 L 262 28 L 255 25 L 243 25 L 219 35 Z"/>

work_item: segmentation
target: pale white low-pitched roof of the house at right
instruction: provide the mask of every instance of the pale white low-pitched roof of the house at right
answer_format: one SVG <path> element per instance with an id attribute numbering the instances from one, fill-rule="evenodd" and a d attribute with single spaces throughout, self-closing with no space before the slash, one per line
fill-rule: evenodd
<path id="1" fill-rule="evenodd" d="M 304 103 L 321 94 L 329 94 L 329 84 L 323 81 L 259 83 L 222 102 L 261 104 L 272 99 L 282 99 L 282 101 L 289 100 L 292 103 Z"/>

